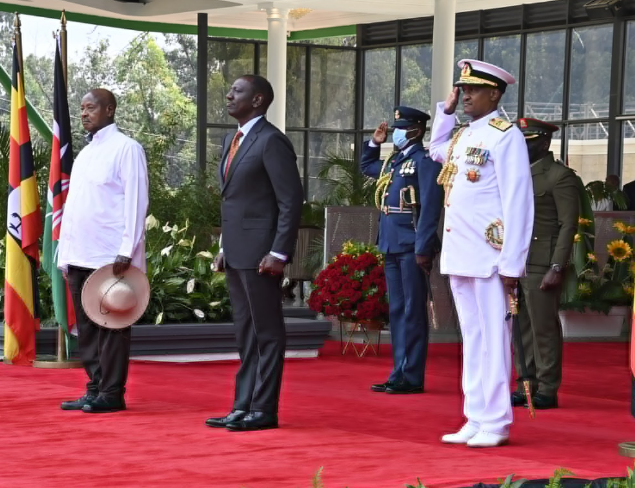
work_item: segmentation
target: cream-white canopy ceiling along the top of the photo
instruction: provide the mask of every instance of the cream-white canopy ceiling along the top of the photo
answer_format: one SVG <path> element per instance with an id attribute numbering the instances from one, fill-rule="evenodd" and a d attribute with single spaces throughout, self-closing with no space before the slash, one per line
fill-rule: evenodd
<path id="1" fill-rule="evenodd" d="M 66 10 L 102 17 L 196 25 L 196 14 L 206 12 L 210 26 L 267 29 L 262 8 L 311 9 L 289 19 L 290 31 L 319 29 L 434 15 L 434 0 L 146 0 L 145 5 L 116 0 L 2 0 L 20 6 Z M 443 0 L 452 1 L 452 0 Z M 557 0 L 456 0 L 457 12 L 508 7 Z"/>

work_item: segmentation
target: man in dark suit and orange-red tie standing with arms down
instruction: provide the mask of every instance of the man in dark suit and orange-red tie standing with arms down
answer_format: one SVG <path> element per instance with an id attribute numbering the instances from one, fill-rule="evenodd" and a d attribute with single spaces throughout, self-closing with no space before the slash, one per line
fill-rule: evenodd
<path id="1" fill-rule="evenodd" d="M 238 78 L 227 111 L 238 131 L 223 141 L 219 165 L 223 247 L 214 265 L 225 271 L 241 365 L 232 411 L 210 427 L 278 427 L 286 332 L 282 277 L 293 256 L 304 192 L 293 145 L 265 118 L 273 88 L 261 76 Z"/>

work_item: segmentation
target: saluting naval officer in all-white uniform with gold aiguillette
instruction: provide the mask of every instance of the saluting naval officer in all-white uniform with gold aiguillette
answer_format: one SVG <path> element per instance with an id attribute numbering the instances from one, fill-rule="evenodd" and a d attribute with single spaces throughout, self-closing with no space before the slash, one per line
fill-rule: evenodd
<path id="1" fill-rule="evenodd" d="M 463 336 L 467 418 L 442 441 L 493 447 L 508 441 L 512 423 L 508 293 L 525 273 L 533 187 L 524 137 L 497 110 L 516 80 L 478 60 L 461 60 L 459 67 L 459 81 L 437 105 L 430 143 L 430 156 L 444 163 L 438 180 L 446 193 L 441 272 L 450 276 Z M 471 121 L 453 134 L 459 90 Z"/>

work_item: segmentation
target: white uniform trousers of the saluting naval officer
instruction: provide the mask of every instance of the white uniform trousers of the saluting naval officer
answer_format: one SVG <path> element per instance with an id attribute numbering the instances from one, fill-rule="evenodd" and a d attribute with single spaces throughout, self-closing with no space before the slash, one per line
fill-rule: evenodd
<path id="1" fill-rule="evenodd" d="M 503 282 L 450 276 L 463 336 L 463 412 L 474 427 L 507 435 L 510 402 L 511 321 Z"/>

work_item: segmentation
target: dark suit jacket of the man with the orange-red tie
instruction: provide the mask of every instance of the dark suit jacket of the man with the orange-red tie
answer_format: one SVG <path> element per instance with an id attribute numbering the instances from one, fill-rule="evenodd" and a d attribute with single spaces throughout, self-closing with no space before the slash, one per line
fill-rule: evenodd
<path id="1" fill-rule="evenodd" d="M 229 166 L 223 167 L 235 132 L 223 139 L 222 246 L 234 269 L 257 269 L 270 251 L 293 258 L 304 192 L 291 141 L 264 117 L 251 128 Z"/>

